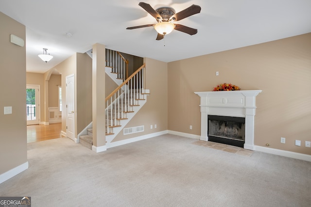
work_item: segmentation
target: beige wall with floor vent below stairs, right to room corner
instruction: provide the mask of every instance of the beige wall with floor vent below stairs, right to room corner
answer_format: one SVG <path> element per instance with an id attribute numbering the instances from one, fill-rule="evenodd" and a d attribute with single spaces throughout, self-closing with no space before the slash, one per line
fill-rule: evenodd
<path id="1" fill-rule="evenodd" d="M 168 128 L 168 76 L 167 63 L 145 58 L 146 63 L 146 89 L 150 90 L 147 103 L 137 112 L 133 119 L 125 126 L 145 126 L 144 132 L 123 135 L 121 131 L 113 142 L 134 138 L 146 134 L 160 132 Z M 150 129 L 150 125 L 155 126 Z"/>

